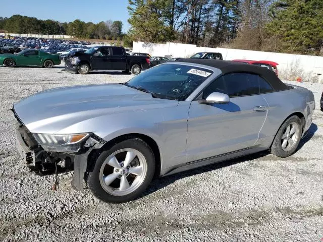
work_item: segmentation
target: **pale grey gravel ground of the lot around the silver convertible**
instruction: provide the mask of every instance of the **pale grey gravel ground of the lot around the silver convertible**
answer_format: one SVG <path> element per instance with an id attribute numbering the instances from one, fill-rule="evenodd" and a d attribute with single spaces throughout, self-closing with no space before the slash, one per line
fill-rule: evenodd
<path id="1" fill-rule="evenodd" d="M 48 88 L 132 77 L 62 69 L 0 67 L 0 240 L 322 241 L 323 84 L 298 84 L 313 91 L 316 110 L 291 157 L 260 153 L 202 167 L 154 180 L 136 201 L 105 204 L 89 190 L 72 190 L 72 172 L 60 174 L 52 191 L 54 176 L 29 172 L 15 148 L 14 102 Z"/>

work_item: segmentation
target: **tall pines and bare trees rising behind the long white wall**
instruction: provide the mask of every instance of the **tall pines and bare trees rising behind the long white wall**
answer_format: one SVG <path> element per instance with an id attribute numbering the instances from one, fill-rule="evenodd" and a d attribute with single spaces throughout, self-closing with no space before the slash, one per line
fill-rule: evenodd
<path id="1" fill-rule="evenodd" d="M 322 0 L 129 0 L 132 40 L 322 54 Z"/>

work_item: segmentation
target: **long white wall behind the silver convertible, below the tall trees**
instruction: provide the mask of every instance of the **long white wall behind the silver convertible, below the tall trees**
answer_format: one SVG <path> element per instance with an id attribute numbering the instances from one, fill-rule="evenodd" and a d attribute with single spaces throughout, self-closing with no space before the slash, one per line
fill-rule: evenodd
<path id="1" fill-rule="evenodd" d="M 133 42 L 133 52 L 146 52 L 152 56 L 171 55 L 189 57 L 197 52 L 220 52 L 225 60 L 251 59 L 254 61 L 273 61 L 279 64 L 280 77 L 295 80 L 298 76 L 304 81 L 323 82 L 323 57 L 300 54 L 284 54 L 242 49 L 197 47 L 192 44 L 170 43 L 154 44 Z"/>

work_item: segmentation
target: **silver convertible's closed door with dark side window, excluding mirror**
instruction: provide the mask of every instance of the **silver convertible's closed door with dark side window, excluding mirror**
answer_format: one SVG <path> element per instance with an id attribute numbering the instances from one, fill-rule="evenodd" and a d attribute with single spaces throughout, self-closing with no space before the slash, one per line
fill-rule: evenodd
<path id="1" fill-rule="evenodd" d="M 187 162 L 255 145 L 268 109 L 261 93 L 273 91 L 270 84 L 261 84 L 265 88 L 260 88 L 259 83 L 257 75 L 227 74 L 214 80 L 192 101 L 188 115 Z M 212 92 L 228 94 L 230 103 L 198 103 Z"/>

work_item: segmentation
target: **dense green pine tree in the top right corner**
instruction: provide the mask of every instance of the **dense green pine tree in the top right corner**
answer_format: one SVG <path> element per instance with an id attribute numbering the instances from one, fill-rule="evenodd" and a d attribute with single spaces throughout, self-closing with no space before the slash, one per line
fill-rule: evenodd
<path id="1" fill-rule="evenodd" d="M 266 28 L 280 40 L 279 51 L 323 49 L 323 1 L 279 0 L 272 5 L 270 15 L 273 21 Z"/>

